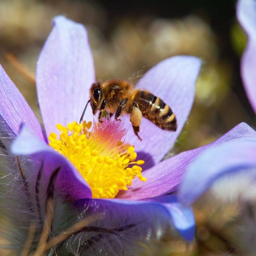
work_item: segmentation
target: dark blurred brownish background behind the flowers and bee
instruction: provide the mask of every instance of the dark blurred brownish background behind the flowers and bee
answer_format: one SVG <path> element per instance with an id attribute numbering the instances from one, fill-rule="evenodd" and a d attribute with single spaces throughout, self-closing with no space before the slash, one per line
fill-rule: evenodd
<path id="1" fill-rule="evenodd" d="M 240 122 L 255 127 L 240 78 L 246 36 L 235 5 L 232 0 L 0 0 L 0 63 L 40 118 L 34 70 L 56 15 L 87 27 L 98 79 L 136 83 L 167 57 L 200 57 L 195 103 L 172 155 L 214 141 Z M 209 231 L 202 214 L 197 214 L 202 225 L 195 243 L 177 246 L 167 239 L 162 255 L 223 255 L 232 250 L 225 235 Z M 230 255 L 240 253 L 237 249 Z"/>

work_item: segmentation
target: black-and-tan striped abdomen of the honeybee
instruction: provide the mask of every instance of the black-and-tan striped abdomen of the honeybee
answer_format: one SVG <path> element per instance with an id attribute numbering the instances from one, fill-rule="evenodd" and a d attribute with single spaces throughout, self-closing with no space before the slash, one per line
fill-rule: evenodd
<path id="1" fill-rule="evenodd" d="M 176 131 L 176 117 L 162 99 L 145 91 L 138 91 L 135 98 L 144 117 L 164 130 Z"/>

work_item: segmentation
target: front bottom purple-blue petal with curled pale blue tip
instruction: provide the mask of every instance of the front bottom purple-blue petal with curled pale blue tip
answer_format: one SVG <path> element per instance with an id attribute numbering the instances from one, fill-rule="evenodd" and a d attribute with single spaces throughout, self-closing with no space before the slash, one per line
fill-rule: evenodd
<path id="1" fill-rule="evenodd" d="M 107 225 L 105 228 L 117 227 L 121 221 L 126 225 L 138 225 L 138 228 L 144 233 L 143 237 L 147 233 L 152 235 L 157 233 L 158 237 L 155 238 L 160 238 L 170 226 L 174 225 L 176 230 L 188 241 L 193 240 L 195 235 L 193 212 L 190 208 L 181 206 L 175 195 L 165 195 L 143 201 L 89 199 L 79 200 L 77 203 L 80 207 L 87 209 L 89 204 L 92 205 L 94 213 L 104 212 L 106 214 L 104 223 Z M 136 239 L 135 230 L 132 234 Z"/>

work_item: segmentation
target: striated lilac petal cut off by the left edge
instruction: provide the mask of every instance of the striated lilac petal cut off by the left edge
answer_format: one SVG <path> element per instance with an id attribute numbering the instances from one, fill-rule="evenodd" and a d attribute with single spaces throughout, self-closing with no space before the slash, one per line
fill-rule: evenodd
<path id="1" fill-rule="evenodd" d="M 0 117 L 14 134 L 19 134 L 21 123 L 26 125 L 42 140 L 44 132 L 28 103 L 0 65 Z"/>

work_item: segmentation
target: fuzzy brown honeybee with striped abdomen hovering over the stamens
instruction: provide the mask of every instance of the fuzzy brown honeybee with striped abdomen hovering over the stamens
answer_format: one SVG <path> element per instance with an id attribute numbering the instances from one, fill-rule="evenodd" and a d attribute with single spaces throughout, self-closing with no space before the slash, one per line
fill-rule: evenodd
<path id="1" fill-rule="evenodd" d="M 110 113 L 110 117 L 115 113 L 115 120 L 121 114 L 130 114 L 130 121 L 135 135 L 140 139 L 139 130 L 142 117 L 156 124 L 164 130 L 176 131 L 176 116 L 171 108 L 154 94 L 140 89 L 133 89 L 132 84 L 125 80 L 112 79 L 106 82 L 94 82 L 90 88 L 90 99 L 80 118 L 80 123 L 84 116 L 88 103 L 92 107 L 95 115 L 99 110 L 99 122 L 104 110 Z"/>

